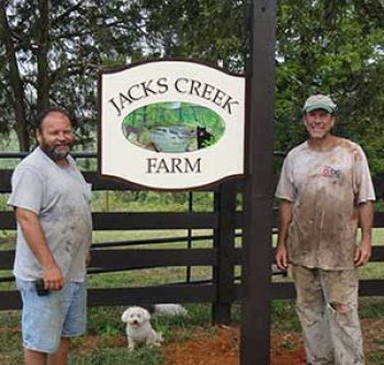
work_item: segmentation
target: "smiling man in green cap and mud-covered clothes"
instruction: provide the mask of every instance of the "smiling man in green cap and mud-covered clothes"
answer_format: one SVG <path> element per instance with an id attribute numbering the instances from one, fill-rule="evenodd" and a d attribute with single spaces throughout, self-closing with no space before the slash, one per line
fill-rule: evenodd
<path id="1" fill-rule="evenodd" d="M 375 194 L 362 148 L 331 134 L 335 112 L 327 95 L 305 102 L 308 139 L 286 156 L 275 194 L 275 259 L 292 266 L 307 363 L 362 365 L 357 267 L 371 256 Z"/>

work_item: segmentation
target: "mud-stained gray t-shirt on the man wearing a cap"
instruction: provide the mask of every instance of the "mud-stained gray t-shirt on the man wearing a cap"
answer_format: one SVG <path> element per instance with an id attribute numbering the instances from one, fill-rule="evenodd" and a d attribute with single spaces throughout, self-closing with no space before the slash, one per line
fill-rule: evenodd
<path id="1" fill-rule="evenodd" d="M 353 269 L 358 205 L 374 201 L 361 147 L 338 138 L 327 151 L 304 142 L 285 158 L 276 196 L 292 202 L 289 261 L 324 270 Z"/>

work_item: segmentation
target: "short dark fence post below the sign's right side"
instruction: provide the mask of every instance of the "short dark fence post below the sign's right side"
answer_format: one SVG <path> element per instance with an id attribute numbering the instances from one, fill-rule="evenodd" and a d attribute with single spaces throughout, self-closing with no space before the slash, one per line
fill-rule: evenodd
<path id="1" fill-rule="evenodd" d="M 235 300 L 235 215 L 236 182 L 224 182 L 215 193 L 215 210 L 218 212 L 218 228 L 214 232 L 217 265 L 213 270 L 213 281 L 217 285 L 216 301 L 212 307 L 212 322 L 229 324 L 230 308 Z"/>

